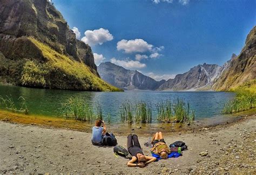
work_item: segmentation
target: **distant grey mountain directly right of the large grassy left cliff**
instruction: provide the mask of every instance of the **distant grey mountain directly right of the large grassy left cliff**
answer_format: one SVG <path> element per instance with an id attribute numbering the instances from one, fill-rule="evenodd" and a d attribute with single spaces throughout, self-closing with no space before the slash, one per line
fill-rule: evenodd
<path id="1" fill-rule="evenodd" d="M 103 62 L 100 64 L 98 66 L 98 72 L 100 77 L 106 82 L 127 90 L 155 90 L 165 82 L 165 80 L 156 81 L 138 71 L 125 69 L 111 62 Z"/>

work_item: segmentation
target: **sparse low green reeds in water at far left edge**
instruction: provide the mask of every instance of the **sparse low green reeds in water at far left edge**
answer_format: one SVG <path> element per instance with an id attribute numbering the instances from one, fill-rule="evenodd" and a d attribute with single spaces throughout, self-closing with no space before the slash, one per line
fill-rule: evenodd
<path id="1" fill-rule="evenodd" d="M 11 95 L 6 95 L 6 99 L 0 96 L 0 103 L 3 104 L 6 109 L 11 110 L 13 113 L 24 113 L 26 115 L 29 114 L 29 109 L 26 107 L 26 100 L 22 96 L 20 96 L 17 101 L 19 107 L 16 106 Z"/>

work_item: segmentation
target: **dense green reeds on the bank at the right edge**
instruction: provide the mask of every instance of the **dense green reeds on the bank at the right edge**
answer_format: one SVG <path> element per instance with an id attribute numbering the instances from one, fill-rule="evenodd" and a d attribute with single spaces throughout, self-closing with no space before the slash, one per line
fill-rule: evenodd
<path id="1" fill-rule="evenodd" d="M 235 98 L 224 104 L 223 114 L 238 113 L 256 107 L 256 94 L 250 92 L 238 92 Z"/>

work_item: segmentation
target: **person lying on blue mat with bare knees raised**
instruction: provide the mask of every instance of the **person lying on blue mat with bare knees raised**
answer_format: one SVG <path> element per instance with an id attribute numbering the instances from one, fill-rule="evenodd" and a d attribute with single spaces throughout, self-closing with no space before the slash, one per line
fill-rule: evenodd
<path id="1" fill-rule="evenodd" d="M 154 134 L 151 144 L 153 144 L 151 152 L 159 155 L 162 159 L 167 159 L 171 150 L 166 145 L 162 132 L 156 132 L 156 134 Z"/>

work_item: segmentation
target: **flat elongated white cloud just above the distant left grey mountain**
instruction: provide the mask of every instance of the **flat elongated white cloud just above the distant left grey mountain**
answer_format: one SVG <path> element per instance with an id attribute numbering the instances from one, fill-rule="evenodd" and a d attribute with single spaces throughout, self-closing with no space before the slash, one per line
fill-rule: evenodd
<path id="1" fill-rule="evenodd" d="M 110 60 L 113 64 L 122 66 L 127 69 L 140 69 L 146 67 L 146 64 L 143 64 L 139 61 L 133 61 L 133 60 L 117 60 L 116 58 L 112 58 Z"/>

